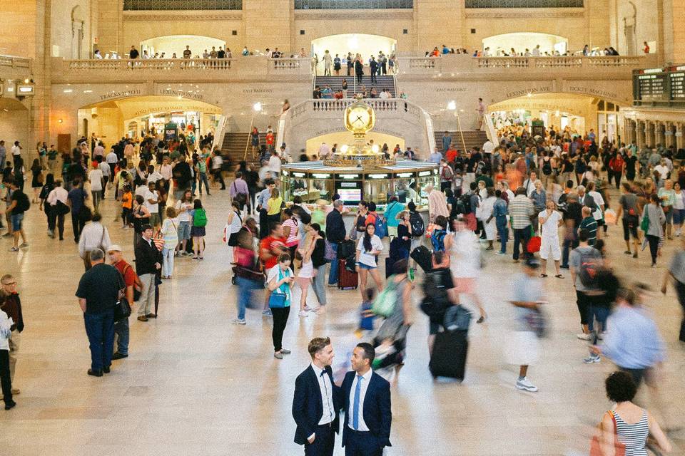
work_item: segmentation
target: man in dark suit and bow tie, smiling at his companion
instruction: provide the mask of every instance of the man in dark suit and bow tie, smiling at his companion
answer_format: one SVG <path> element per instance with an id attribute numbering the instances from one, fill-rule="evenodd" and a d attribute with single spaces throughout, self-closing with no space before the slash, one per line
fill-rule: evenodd
<path id="1" fill-rule="evenodd" d="M 312 363 L 295 380 L 295 443 L 305 445 L 306 456 L 333 456 L 335 432 L 340 430 L 340 387 L 333 383 L 330 338 L 313 338 L 308 351 Z"/>

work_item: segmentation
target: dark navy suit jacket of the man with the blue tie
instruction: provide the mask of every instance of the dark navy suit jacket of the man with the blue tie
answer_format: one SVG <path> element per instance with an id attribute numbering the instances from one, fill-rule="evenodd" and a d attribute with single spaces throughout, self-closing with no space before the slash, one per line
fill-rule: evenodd
<path id="1" fill-rule="evenodd" d="M 347 410 L 350 405 L 352 381 L 355 380 L 354 371 L 345 374 L 342 380 L 342 410 L 345 410 L 345 421 L 342 423 L 342 446 L 345 446 L 350 428 L 347 426 L 352 410 Z M 390 423 L 392 422 L 392 410 L 390 410 L 390 383 L 377 373 L 371 374 L 371 380 L 364 396 L 364 423 L 369 428 L 371 435 L 376 439 L 379 448 L 391 447 Z"/>

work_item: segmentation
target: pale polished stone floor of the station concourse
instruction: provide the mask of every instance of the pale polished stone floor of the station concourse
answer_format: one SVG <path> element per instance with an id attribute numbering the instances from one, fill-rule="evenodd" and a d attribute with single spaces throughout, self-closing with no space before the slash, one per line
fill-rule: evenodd
<path id="1" fill-rule="evenodd" d="M 298 455 L 290 415 L 295 377 L 310 362 L 314 336 L 333 340 L 341 365 L 357 343 L 357 291 L 328 289 L 328 312 L 290 315 L 284 345 L 293 354 L 272 356 L 271 321 L 248 311 L 248 324 L 234 326 L 236 289 L 230 285 L 226 247 L 221 243 L 228 202 L 225 192 L 205 199 L 208 236 L 205 260 L 177 259 L 173 279 L 161 286 L 159 318 L 131 318 L 131 352 L 103 378 L 86 375 L 88 342 L 76 291 L 82 263 L 71 240 L 46 236 L 36 205 L 25 225 L 30 246 L 7 252 L 0 240 L 0 273 L 19 281 L 26 329 L 15 386 L 17 407 L 0 411 L 0 455 Z M 113 242 L 132 259 L 132 232 L 112 222 L 115 203 L 102 212 Z M 649 268 L 622 254 L 621 232 L 609 230 L 609 258 L 628 280 L 656 284 L 663 267 Z M 511 244 L 509 244 L 509 247 Z M 664 249 L 665 264 L 676 242 Z M 569 274 L 550 276 L 545 288 L 552 331 L 542 357 L 529 369 L 539 393 L 514 388 L 517 368 L 502 357 L 512 309 L 505 301 L 519 266 L 487 252 L 480 278 L 489 318 L 470 331 L 467 378 L 462 384 L 434 383 L 427 370 L 427 318 L 415 311 L 408 334 L 406 366 L 392 389 L 392 448 L 387 455 L 587 455 L 592 425 L 610 407 L 604 378 L 609 361 L 584 365 L 586 343 L 577 340 L 577 308 Z M 660 265 L 661 266 L 661 265 Z M 415 301 L 420 299 L 415 290 Z M 685 416 L 685 347 L 678 339 L 681 309 L 674 292 L 647 303 L 668 345 L 661 380 L 666 425 L 681 427 Z M 334 366 L 340 367 L 340 366 Z M 641 400 L 655 408 L 654 398 Z M 671 432 L 675 454 L 685 452 L 685 433 Z M 340 438 L 336 455 L 342 455 Z"/>

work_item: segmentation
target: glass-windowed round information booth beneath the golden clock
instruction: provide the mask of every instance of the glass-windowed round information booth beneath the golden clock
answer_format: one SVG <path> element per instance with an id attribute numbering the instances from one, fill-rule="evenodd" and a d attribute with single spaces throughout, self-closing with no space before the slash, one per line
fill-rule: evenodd
<path id="1" fill-rule="evenodd" d="M 330 202 L 340 195 L 345 206 L 356 206 L 363 199 L 375 202 L 382 212 L 393 195 L 417 207 L 428 204 L 425 187 L 438 187 L 437 165 L 427 162 L 397 162 L 375 167 L 332 167 L 323 162 L 301 162 L 281 167 L 281 195 L 286 202 L 300 196 L 305 203 L 318 199 Z"/>

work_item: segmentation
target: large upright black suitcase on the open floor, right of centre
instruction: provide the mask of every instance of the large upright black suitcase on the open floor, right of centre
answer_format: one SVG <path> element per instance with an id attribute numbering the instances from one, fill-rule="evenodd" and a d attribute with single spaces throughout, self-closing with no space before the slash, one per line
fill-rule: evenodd
<path id="1" fill-rule="evenodd" d="M 464 380 L 466 353 L 469 349 L 467 331 L 443 331 L 435 335 L 433 353 L 428 368 L 433 378 L 450 377 Z"/>

